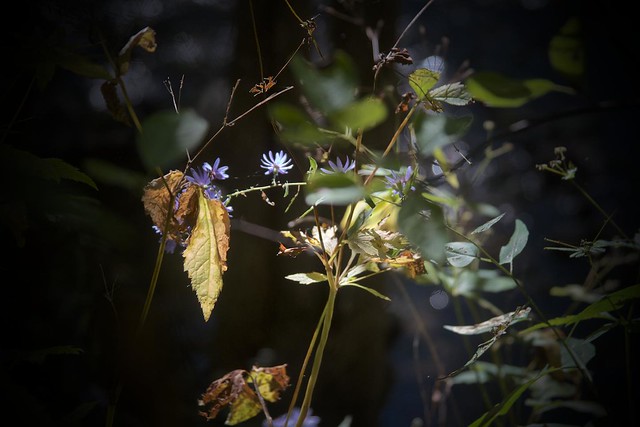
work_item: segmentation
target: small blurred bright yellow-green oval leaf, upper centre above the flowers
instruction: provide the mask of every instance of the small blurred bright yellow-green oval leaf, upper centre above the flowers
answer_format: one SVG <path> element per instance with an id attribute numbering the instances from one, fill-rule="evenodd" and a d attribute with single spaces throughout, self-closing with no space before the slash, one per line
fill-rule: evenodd
<path id="1" fill-rule="evenodd" d="M 376 127 L 387 118 L 387 107 L 381 99 L 368 97 L 355 101 L 329 115 L 329 120 L 338 131 L 345 128 L 366 131 Z"/>

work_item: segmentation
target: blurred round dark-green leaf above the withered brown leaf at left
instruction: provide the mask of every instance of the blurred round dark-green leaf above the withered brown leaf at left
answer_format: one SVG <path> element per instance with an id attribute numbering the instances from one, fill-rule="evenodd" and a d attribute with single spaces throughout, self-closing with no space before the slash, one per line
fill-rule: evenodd
<path id="1" fill-rule="evenodd" d="M 136 143 L 148 171 L 159 167 L 171 169 L 195 150 L 207 133 L 209 124 L 193 110 L 163 111 L 149 116 L 142 123 L 142 133 Z"/>

